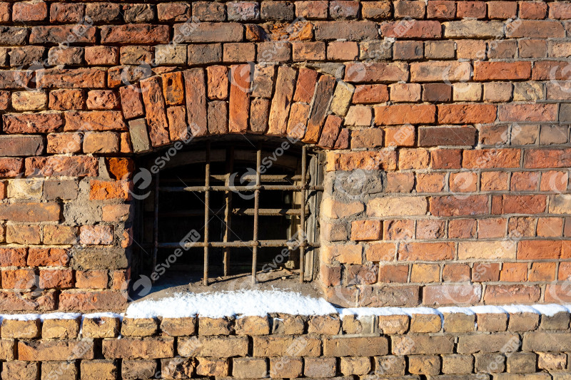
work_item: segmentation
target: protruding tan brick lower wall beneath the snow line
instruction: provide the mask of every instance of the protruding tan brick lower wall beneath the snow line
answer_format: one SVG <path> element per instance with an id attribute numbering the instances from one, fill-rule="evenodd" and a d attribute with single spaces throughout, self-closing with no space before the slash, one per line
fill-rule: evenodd
<path id="1" fill-rule="evenodd" d="M 508 322 L 509 320 L 509 322 Z M 475 327 L 477 322 L 477 328 Z M 276 314 L 1 326 L 2 379 L 566 380 L 569 313 Z M 121 339 L 118 335 L 121 334 Z"/>

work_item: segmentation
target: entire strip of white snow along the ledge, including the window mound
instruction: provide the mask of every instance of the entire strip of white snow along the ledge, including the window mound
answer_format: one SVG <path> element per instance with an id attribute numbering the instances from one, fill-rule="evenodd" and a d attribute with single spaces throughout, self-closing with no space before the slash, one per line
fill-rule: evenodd
<path id="1" fill-rule="evenodd" d="M 183 317 L 246 317 L 266 314 L 328 315 L 339 314 L 341 318 L 354 315 L 357 319 L 370 316 L 464 313 L 515 314 L 532 312 L 552 317 L 557 312 L 571 312 L 571 304 L 534 305 L 478 305 L 472 307 L 355 307 L 335 308 L 323 298 L 303 296 L 295 292 L 278 290 L 241 290 L 235 292 L 206 292 L 173 294 L 163 299 L 143 299 L 133 302 L 125 314 L 111 312 L 79 314 L 54 312 L 49 314 L 0 314 L 2 319 L 29 321 L 40 319 L 95 319 L 95 318 L 183 318 Z M 82 324 L 83 325 L 83 324 Z"/>

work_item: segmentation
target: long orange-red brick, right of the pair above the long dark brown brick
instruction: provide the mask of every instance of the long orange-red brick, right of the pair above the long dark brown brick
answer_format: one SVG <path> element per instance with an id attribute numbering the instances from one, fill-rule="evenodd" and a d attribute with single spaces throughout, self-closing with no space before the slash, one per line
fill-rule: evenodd
<path id="1" fill-rule="evenodd" d="M 439 124 L 493 123 L 495 118 L 496 106 L 492 104 L 440 104 L 438 106 Z"/>

